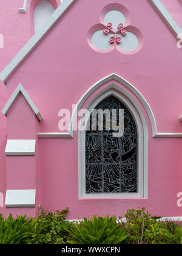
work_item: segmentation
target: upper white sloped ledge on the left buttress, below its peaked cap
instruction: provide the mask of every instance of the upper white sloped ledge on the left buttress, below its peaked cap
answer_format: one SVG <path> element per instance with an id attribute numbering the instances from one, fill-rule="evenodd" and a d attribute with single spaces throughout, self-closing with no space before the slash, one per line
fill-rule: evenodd
<path id="1" fill-rule="evenodd" d="M 5 155 L 35 155 L 35 140 L 7 140 Z"/>

